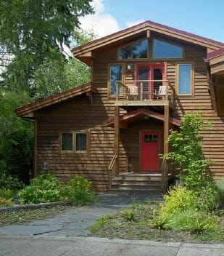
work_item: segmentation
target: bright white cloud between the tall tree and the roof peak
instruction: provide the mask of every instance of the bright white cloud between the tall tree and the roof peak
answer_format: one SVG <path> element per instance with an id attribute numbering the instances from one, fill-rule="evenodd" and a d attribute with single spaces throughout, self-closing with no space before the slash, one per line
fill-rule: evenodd
<path id="1" fill-rule="evenodd" d="M 92 6 L 95 10 L 94 15 L 80 18 L 80 27 L 84 31 L 94 31 L 96 37 L 100 38 L 120 30 L 115 17 L 105 12 L 104 0 L 94 0 Z"/>

